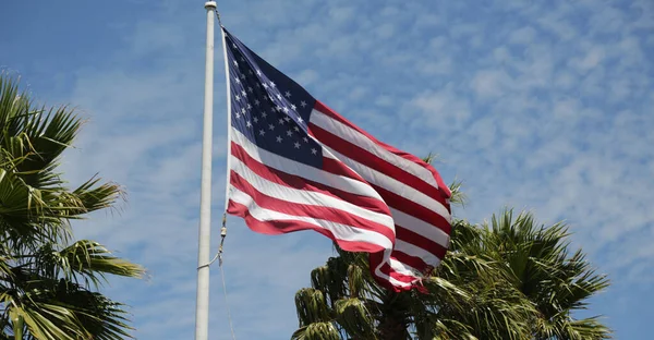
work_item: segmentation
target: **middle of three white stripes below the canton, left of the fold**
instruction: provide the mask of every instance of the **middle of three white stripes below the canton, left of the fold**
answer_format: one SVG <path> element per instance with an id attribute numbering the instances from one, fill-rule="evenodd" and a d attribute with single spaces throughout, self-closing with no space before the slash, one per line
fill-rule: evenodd
<path id="1" fill-rule="evenodd" d="M 256 174 L 235 156 L 231 156 L 231 162 L 232 170 L 240 174 L 243 179 L 245 179 L 245 181 L 254 186 L 254 189 L 264 195 L 295 204 L 336 208 L 363 219 L 382 223 L 395 232 L 395 222 L 392 217 L 388 215 L 362 208 L 361 206 L 326 195 L 324 193 L 299 190 L 277 184 Z"/>

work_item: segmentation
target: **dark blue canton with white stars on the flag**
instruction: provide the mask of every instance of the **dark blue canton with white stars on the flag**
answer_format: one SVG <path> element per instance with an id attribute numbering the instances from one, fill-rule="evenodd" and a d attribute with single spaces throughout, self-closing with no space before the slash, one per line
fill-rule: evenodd
<path id="1" fill-rule="evenodd" d="M 307 134 L 316 99 L 227 29 L 231 124 L 259 148 L 322 168 L 323 149 Z"/>

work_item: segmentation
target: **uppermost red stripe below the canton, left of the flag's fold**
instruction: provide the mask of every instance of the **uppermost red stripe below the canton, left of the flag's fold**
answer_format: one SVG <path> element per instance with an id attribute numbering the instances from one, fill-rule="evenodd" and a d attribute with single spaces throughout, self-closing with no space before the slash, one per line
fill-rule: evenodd
<path id="1" fill-rule="evenodd" d="M 252 170 L 254 173 L 270 182 L 292 189 L 322 193 L 341 201 L 355 204 L 371 211 L 390 216 L 390 210 L 388 209 L 386 203 L 384 203 L 383 201 L 349 193 L 342 190 L 325 185 L 323 183 L 310 181 L 304 178 L 289 174 L 281 170 L 277 170 L 275 168 L 267 167 L 266 165 L 252 158 L 241 145 L 233 142 L 231 145 L 231 154 L 238 159 L 240 159 L 243 163 L 245 163 L 247 168 L 250 168 L 250 170 Z"/>

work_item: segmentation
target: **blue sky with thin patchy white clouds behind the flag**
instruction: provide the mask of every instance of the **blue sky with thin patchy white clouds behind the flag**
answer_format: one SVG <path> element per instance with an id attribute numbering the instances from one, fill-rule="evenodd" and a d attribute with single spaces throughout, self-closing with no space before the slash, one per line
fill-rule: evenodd
<path id="1" fill-rule="evenodd" d="M 102 4 L 101 7 L 99 4 Z M 62 171 L 128 198 L 77 238 L 144 265 L 105 288 L 137 339 L 194 333 L 206 12 L 203 1 L 4 1 L 0 69 L 35 100 L 87 119 Z M 240 40 L 383 142 L 439 155 L 468 195 L 453 214 L 505 207 L 565 220 L 611 286 L 581 315 L 646 339 L 654 304 L 654 2 L 218 2 Z M 226 96 L 216 28 L 213 242 L 225 205 Z M 649 112 L 649 113 L 647 113 Z M 650 208 L 647 208 L 650 207 Z M 225 279 L 238 339 L 288 339 L 294 293 L 332 255 L 314 232 L 262 235 L 228 218 Z M 214 251 L 213 251 L 214 252 Z M 210 339 L 231 339 L 221 276 Z"/>

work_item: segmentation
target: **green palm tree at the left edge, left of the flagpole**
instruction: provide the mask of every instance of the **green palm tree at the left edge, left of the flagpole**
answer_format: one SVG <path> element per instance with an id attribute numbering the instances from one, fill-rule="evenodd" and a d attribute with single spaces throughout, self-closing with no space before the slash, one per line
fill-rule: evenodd
<path id="1" fill-rule="evenodd" d="M 101 244 L 73 241 L 71 221 L 122 196 L 92 178 L 74 190 L 57 172 L 82 121 L 37 108 L 0 74 L 0 339 L 129 338 L 124 305 L 98 292 L 107 275 L 144 269 Z"/>

